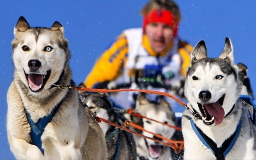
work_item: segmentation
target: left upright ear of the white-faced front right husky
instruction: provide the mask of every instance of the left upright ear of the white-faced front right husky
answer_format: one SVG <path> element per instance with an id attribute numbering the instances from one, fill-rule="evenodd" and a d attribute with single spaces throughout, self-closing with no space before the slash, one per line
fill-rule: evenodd
<path id="1" fill-rule="evenodd" d="M 203 40 L 199 41 L 194 47 L 191 53 L 190 64 L 193 64 L 195 61 L 202 58 L 207 58 L 207 49 Z"/>

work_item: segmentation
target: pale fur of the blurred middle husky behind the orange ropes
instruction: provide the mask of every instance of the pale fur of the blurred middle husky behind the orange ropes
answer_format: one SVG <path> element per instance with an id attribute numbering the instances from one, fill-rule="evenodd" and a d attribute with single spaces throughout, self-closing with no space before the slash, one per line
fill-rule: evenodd
<path id="1" fill-rule="evenodd" d="M 147 118 L 151 118 L 162 123 L 166 122 L 168 125 L 176 126 L 176 122 L 173 121 L 172 119 L 174 117 L 174 113 L 171 110 L 167 101 L 163 100 L 160 104 L 153 104 L 153 103 L 150 103 L 143 95 L 144 94 L 139 94 L 137 98 L 136 107 L 134 108 L 134 112 L 137 112 Z M 147 118 L 143 118 L 143 129 L 153 133 L 161 134 L 163 137 L 171 139 L 171 137 L 175 132 L 174 128 L 163 125 L 159 122 L 155 122 L 153 120 L 148 120 Z M 146 131 L 142 131 L 142 134 L 151 138 L 153 138 L 154 136 L 153 134 L 148 133 Z M 134 134 L 134 138 L 137 145 L 137 154 L 139 156 L 143 156 L 146 159 L 152 159 L 149 148 L 146 146 L 144 138 L 142 136 L 138 136 L 135 134 Z M 160 156 L 154 159 L 171 159 L 172 158 L 170 147 L 165 146 L 161 143 L 157 143 L 154 140 L 150 140 L 150 139 L 146 139 L 146 141 L 148 146 L 150 145 L 163 146 Z M 167 142 L 167 141 L 162 140 L 162 142 Z"/>

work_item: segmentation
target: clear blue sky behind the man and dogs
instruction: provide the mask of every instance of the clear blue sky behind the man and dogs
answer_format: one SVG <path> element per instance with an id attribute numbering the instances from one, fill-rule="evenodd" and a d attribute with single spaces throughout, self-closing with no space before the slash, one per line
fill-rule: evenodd
<path id="1" fill-rule="evenodd" d="M 140 27 L 139 14 L 147 0 L 28 0 L 0 1 L 0 159 L 15 159 L 6 135 L 6 93 L 13 80 L 11 41 L 19 16 L 31 27 L 51 27 L 59 21 L 71 50 L 70 66 L 76 84 L 83 82 L 97 57 L 124 29 Z M 176 0 L 182 12 L 179 36 L 193 46 L 204 40 L 209 57 L 218 57 L 225 37 L 234 46 L 234 60 L 248 67 L 253 90 L 256 51 L 256 1 Z M 181 107 L 181 106 L 180 106 Z M 181 108 L 182 109 L 182 108 Z"/>

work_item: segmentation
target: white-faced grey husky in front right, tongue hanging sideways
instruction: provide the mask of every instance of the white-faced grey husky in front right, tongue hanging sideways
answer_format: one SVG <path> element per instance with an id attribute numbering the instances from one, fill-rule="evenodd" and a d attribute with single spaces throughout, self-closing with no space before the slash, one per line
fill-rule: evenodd
<path id="1" fill-rule="evenodd" d="M 256 130 L 234 64 L 229 38 L 218 58 L 208 58 L 203 40 L 191 53 L 182 116 L 184 159 L 256 159 Z"/>

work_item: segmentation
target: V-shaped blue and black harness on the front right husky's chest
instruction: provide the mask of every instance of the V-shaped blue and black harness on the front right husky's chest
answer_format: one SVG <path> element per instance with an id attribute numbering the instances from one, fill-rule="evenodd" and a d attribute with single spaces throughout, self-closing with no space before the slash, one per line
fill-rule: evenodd
<path id="1" fill-rule="evenodd" d="M 222 160 L 225 159 L 226 155 L 228 152 L 231 150 L 233 147 L 234 143 L 237 141 L 238 135 L 241 131 L 241 126 L 242 126 L 242 120 L 240 119 L 239 124 L 237 126 L 236 131 L 227 139 L 225 142 L 222 144 L 221 147 L 217 147 L 216 143 L 210 139 L 207 135 L 205 135 L 194 123 L 192 118 L 190 119 L 191 126 L 200 139 L 200 141 L 215 155 L 217 160 Z"/>

